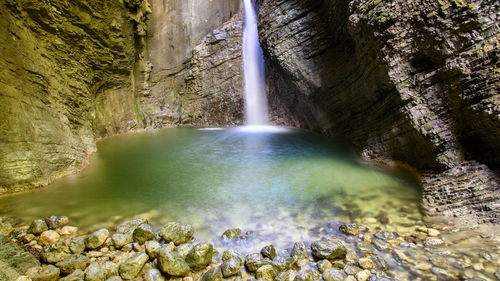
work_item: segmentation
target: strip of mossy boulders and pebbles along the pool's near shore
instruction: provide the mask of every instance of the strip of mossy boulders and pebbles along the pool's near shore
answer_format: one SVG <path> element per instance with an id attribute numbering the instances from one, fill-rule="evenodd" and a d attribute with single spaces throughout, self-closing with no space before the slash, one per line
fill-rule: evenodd
<path id="1" fill-rule="evenodd" d="M 291 242 L 293 246 L 287 249 L 269 244 L 245 255 L 231 249 L 231 243 L 247 239 L 251 232 L 242 234 L 237 228 L 222 233 L 220 240 L 229 247 L 219 251 L 213 244 L 198 241 L 192 226 L 177 222 L 155 229 L 147 219 L 135 219 L 112 231 L 93 232 L 69 224 L 67 217 L 56 216 L 34 220 L 29 226 L 1 219 L 0 279 L 500 280 L 500 237 L 495 233 L 481 235 L 496 247 L 483 249 L 478 263 L 447 247 L 454 242 L 442 237 L 441 231 L 449 230 L 446 227 L 441 231 L 419 227 L 417 233 L 404 236 L 361 224 L 342 224 L 339 237 Z M 423 253 L 426 261 L 415 258 L 411 254 L 415 251 Z M 458 270 L 446 270 L 450 264 Z M 400 265 L 406 275 L 398 273 Z"/>

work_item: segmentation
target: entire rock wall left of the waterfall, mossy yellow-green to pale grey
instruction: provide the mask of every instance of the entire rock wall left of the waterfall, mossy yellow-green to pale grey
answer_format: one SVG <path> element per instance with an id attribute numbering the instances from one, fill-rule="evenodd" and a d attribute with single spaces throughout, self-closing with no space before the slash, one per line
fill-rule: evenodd
<path id="1" fill-rule="evenodd" d="M 77 171 L 100 137 L 241 122 L 239 1 L 150 2 L 0 3 L 0 194 Z"/>

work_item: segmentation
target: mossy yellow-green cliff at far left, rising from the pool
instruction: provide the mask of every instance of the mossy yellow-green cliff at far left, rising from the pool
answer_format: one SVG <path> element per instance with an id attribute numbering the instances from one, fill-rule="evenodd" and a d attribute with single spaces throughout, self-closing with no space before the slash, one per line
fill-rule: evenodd
<path id="1" fill-rule="evenodd" d="M 142 123 L 130 77 L 146 4 L 0 3 L 0 193 L 75 171 L 110 123 Z"/>

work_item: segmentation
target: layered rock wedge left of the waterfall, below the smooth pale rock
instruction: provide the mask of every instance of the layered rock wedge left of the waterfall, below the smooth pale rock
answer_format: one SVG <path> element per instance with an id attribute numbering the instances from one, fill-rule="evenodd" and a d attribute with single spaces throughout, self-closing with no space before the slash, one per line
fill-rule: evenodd
<path id="1" fill-rule="evenodd" d="M 151 74 L 140 103 L 152 127 L 242 124 L 241 33 L 236 14 L 207 34 L 187 61 Z"/>

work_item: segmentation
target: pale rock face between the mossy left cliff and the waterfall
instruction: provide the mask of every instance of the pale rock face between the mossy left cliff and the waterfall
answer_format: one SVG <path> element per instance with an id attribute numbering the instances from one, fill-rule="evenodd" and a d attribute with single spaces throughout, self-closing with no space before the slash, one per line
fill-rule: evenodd
<path id="1" fill-rule="evenodd" d="M 150 72 L 139 102 L 151 127 L 243 119 L 239 0 L 153 0 Z"/>

